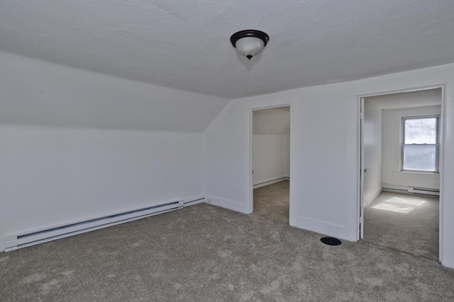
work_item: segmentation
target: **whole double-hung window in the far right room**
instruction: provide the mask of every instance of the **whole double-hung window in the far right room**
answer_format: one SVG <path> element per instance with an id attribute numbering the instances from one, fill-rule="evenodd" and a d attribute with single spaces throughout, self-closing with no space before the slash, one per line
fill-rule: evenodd
<path id="1" fill-rule="evenodd" d="M 403 117 L 402 171 L 438 173 L 438 116 Z"/>

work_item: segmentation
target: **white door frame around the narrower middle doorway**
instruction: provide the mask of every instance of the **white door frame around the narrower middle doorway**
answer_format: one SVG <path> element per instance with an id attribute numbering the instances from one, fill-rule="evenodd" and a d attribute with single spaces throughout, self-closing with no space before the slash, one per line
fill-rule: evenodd
<path id="1" fill-rule="evenodd" d="M 253 167 L 252 136 L 253 111 L 260 109 L 290 107 L 290 190 L 289 190 L 289 225 L 294 226 L 297 215 L 298 197 L 298 103 L 296 95 L 282 95 L 279 98 L 267 98 L 245 104 L 245 213 L 253 213 Z"/>

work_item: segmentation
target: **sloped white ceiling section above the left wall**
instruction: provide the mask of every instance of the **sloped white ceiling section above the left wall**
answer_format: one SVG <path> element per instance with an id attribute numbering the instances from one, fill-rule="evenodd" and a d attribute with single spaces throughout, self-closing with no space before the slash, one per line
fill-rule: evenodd
<path id="1" fill-rule="evenodd" d="M 0 124 L 202 132 L 228 101 L 0 52 Z"/>

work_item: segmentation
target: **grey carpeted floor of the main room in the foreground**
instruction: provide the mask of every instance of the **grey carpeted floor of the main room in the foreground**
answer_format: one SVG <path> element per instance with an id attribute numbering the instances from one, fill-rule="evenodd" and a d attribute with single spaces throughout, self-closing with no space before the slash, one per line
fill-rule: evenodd
<path id="1" fill-rule="evenodd" d="M 1 301 L 454 301 L 454 269 L 198 204 L 0 254 Z"/>

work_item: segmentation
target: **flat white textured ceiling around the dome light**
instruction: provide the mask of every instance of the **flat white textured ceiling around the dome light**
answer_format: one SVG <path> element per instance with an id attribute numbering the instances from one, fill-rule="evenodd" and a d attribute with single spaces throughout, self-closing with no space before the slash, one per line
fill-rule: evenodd
<path id="1" fill-rule="evenodd" d="M 250 62 L 230 36 L 270 35 Z M 454 62 L 454 1 L 0 1 L 0 50 L 227 98 Z"/>

